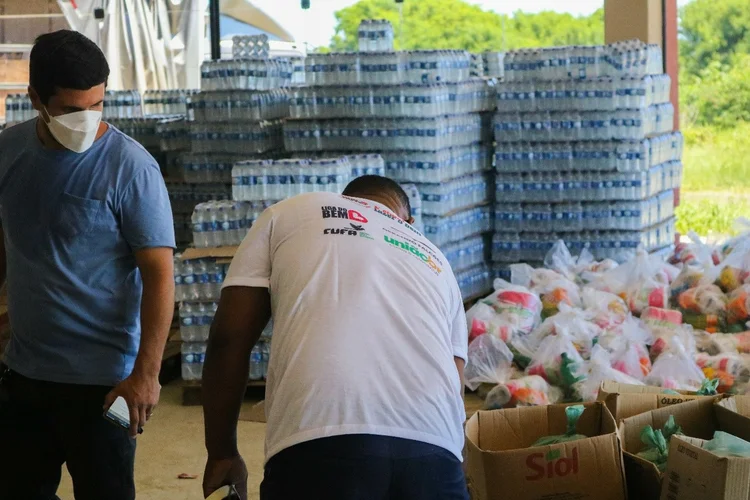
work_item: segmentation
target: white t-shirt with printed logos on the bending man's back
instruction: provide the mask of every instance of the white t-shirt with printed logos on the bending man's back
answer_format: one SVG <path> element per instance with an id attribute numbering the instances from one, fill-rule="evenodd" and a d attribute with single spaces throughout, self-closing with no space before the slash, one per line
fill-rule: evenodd
<path id="1" fill-rule="evenodd" d="M 313 439 L 412 439 L 461 459 L 468 333 L 445 256 L 385 206 L 332 193 L 267 209 L 224 287 L 268 287 L 266 460 Z"/>

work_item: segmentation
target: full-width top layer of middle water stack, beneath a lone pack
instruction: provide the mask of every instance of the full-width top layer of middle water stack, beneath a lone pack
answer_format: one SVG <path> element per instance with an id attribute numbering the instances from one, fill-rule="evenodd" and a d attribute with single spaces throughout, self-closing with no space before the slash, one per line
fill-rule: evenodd
<path id="1" fill-rule="evenodd" d="M 401 85 L 460 82 L 471 76 L 463 50 L 343 52 L 308 54 L 307 85 Z"/>

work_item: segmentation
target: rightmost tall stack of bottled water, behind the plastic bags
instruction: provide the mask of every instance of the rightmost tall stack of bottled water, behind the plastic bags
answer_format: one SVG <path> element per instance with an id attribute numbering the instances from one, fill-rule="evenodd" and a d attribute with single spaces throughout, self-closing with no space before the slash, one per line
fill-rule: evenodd
<path id="1" fill-rule="evenodd" d="M 674 241 L 682 136 L 661 51 L 640 42 L 509 52 L 497 88 L 493 260 L 555 241 L 625 260 Z"/>

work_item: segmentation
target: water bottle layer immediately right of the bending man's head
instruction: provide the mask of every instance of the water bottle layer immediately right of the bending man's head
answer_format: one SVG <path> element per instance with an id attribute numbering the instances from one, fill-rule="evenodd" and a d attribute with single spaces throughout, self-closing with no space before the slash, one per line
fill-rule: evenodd
<path id="1" fill-rule="evenodd" d="M 418 184 L 422 213 L 446 215 L 490 201 L 487 176 L 483 173 L 458 177 L 441 184 Z"/>

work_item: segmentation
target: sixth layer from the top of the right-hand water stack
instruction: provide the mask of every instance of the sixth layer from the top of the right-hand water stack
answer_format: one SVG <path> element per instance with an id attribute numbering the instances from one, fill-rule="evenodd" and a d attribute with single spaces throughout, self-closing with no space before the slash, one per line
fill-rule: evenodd
<path id="1" fill-rule="evenodd" d="M 674 217 L 674 190 L 641 201 L 498 203 L 495 231 L 643 231 Z"/>

